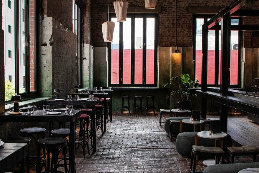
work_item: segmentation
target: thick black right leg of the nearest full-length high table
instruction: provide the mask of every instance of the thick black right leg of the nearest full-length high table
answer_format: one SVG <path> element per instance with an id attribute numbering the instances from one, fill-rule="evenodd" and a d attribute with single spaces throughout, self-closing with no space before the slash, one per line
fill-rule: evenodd
<path id="1" fill-rule="evenodd" d="M 70 136 L 69 136 L 69 172 L 76 172 L 75 162 L 75 122 L 70 123 Z"/>

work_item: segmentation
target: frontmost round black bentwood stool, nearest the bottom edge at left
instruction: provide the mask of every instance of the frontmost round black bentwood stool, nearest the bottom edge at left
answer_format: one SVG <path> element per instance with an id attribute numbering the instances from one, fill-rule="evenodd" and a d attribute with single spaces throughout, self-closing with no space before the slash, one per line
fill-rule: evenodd
<path id="1" fill-rule="evenodd" d="M 40 166 L 40 156 L 41 156 L 41 148 L 47 150 L 47 170 L 44 172 L 62 172 L 58 171 L 58 166 L 64 166 L 65 173 L 67 173 L 67 140 L 65 138 L 58 138 L 58 137 L 50 137 L 50 138 L 41 138 L 37 141 L 37 167 L 36 173 L 41 173 L 41 166 Z M 58 164 L 58 156 L 59 152 L 62 150 L 63 153 L 63 160 L 64 165 Z M 51 155 L 51 163 L 50 163 L 50 153 Z"/>

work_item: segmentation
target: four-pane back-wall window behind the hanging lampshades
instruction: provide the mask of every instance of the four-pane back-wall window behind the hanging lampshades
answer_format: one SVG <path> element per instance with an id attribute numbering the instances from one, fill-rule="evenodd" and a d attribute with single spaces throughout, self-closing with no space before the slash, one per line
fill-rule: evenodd
<path id="1" fill-rule="evenodd" d="M 157 15 L 127 14 L 117 22 L 109 48 L 109 85 L 157 87 Z"/>

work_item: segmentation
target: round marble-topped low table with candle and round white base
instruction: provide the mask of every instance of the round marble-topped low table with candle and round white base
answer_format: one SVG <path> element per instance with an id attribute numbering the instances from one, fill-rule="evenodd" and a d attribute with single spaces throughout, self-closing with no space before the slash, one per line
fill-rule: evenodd
<path id="1" fill-rule="evenodd" d="M 209 131 L 202 131 L 197 134 L 195 134 L 195 145 L 198 145 L 198 137 L 200 138 L 207 138 L 207 139 L 214 139 L 215 140 L 215 147 L 217 147 L 217 140 L 221 139 L 221 149 L 223 149 L 223 138 L 227 136 L 227 133 L 221 132 L 221 133 L 213 133 L 212 135 L 209 135 Z M 204 160 L 203 164 L 206 166 L 215 164 L 215 160 Z"/>

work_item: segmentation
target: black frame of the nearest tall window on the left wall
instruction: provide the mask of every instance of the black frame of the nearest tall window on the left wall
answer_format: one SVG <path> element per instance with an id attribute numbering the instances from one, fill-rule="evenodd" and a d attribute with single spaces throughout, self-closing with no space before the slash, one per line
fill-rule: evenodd
<path id="1" fill-rule="evenodd" d="M 22 57 L 19 56 L 19 1 L 14 0 L 14 83 L 15 83 L 15 93 L 20 95 L 22 99 L 32 99 L 39 96 L 39 78 L 38 78 L 38 67 L 39 67 L 39 11 L 40 11 L 40 2 L 34 0 L 34 91 L 30 91 L 30 1 L 25 1 L 25 92 L 19 93 L 19 68 L 20 68 L 20 60 Z M 22 16 L 21 16 L 22 18 Z M 10 100 L 5 101 L 5 104 L 11 103 Z"/>

